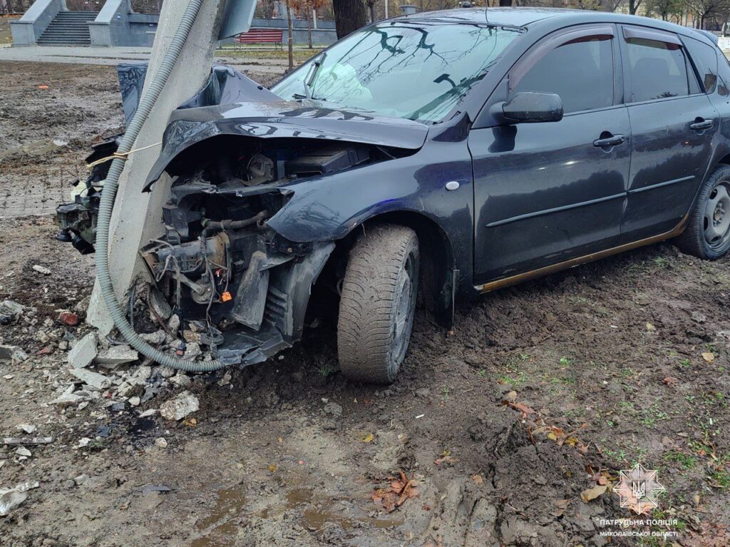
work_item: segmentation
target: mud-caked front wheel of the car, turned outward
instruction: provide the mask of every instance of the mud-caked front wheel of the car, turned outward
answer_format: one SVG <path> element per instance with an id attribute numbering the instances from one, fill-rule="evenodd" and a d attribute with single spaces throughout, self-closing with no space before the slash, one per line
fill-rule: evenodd
<path id="1" fill-rule="evenodd" d="M 396 378 L 413 328 L 419 261 L 415 232 L 396 224 L 366 227 L 350 250 L 337 321 L 339 367 L 350 380 Z"/>

